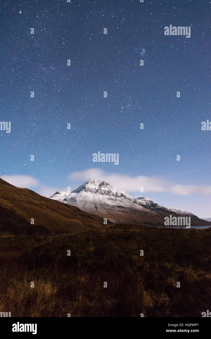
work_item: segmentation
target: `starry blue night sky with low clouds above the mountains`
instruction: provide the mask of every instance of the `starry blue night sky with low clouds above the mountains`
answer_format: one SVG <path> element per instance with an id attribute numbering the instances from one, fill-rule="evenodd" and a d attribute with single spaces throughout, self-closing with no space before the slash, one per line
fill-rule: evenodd
<path id="1" fill-rule="evenodd" d="M 209 1 L 2 1 L 0 19 L 4 180 L 50 196 L 88 171 L 211 217 Z M 190 26 L 190 38 L 165 36 L 170 24 Z M 93 162 L 98 151 L 119 164 Z"/>

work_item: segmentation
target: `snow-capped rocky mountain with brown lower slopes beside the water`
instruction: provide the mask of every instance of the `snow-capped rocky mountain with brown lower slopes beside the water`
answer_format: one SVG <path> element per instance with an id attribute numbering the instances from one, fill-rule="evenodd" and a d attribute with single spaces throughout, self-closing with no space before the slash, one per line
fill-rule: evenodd
<path id="1" fill-rule="evenodd" d="M 57 191 L 50 199 L 73 205 L 115 223 L 163 225 L 164 217 L 190 216 L 191 224 L 202 225 L 201 219 L 187 211 L 166 208 L 145 197 L 133 198 L 118 191 L 106 181 L 90 179 L 71 193 Z"/>

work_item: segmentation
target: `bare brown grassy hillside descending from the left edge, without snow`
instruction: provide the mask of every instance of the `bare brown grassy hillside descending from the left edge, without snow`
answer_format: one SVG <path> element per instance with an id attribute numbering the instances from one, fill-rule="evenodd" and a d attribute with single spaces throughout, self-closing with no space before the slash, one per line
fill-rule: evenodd
<path id="1" fill-rule="evenodd" d="M 18 188 L 0 179 L 0 231 L 76 233 L 101 227 L 103 219 L 79 208 Z M 34 225 L 30 224 L 31 218 Z"/>

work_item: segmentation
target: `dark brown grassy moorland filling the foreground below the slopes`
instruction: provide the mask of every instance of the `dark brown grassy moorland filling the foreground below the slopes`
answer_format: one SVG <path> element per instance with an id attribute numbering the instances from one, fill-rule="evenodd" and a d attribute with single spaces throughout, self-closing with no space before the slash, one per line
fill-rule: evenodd
<path id="1" fill-rule="evenodd" d="M 12 317 L 201 317 L 211 307 L 210 240 L 211 228 L 104 225 L 54 236 L 2 231 L 0 311 Z"/>

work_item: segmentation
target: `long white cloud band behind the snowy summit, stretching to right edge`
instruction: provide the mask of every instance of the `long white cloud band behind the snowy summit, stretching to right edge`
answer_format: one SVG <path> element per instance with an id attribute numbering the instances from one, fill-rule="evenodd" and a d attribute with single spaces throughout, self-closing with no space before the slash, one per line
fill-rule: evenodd
<path id="1" fill-rule="evenodd" d="M 211 186 L 193 186 L 172 184 L 160 177 L 137 176 L 131 177 L 122 174 L 107 174 L 101 169 L 90 168 L 85 171 L 77 171 L 69 174 L 69 179 L 82 184 L 89 179 L 98 179 L 109 182 L 117 190 L 126 192 L 139 192 L 143 186 L 144 192 L 165 192 L 180 195 L 211 194 Z"/>

